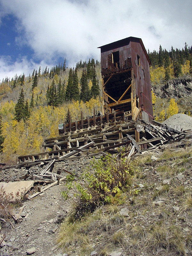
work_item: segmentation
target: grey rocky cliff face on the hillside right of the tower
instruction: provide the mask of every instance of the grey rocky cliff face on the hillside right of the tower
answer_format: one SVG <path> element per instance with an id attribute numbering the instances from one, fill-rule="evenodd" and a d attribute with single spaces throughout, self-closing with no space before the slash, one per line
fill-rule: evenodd
<path id="1" fill-rule="evenodd" d="M 192 77 L 183 76 L 168 81 L 166 84 L 152 84 L 152 88 L 157 97 L 174 98 L 192 97 Z"/>

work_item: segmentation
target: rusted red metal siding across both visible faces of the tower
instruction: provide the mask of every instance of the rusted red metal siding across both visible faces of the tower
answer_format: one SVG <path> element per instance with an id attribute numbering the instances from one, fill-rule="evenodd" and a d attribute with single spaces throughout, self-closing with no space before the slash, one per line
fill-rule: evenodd
<path id="1" fill-rule="evenodd" d="M 131 58 L 130 64 L 132 65 L 136 78 L 136 95 L 139 97 L 139 105 L 142 105 L 143 111 L 148 113 L 149 121 L 153 119 L 151 82 L 149 74 L 150 60 L 148 58 L 142 40 L 136 37 L 128 37 L 120 41 L 101 46 L 100 48 L 101 73 L 103 69 L 108 68 L 108 56 L 112 52 L 119 51 L 120 69 L 122 65 L 124 65 L 125 60 Z M 137 63 L 137 54 L 140 56 L 140 66 Z"/>

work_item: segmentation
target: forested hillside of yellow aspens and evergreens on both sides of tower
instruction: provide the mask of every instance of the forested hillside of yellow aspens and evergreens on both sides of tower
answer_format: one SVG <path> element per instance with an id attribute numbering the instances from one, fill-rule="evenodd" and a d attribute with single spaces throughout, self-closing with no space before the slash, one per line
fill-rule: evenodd
<path id="1" fill-rule="evenodd" d="M 178 112 L 191 115 L 191 100 L 186 104 L 182 100 L 186 97 L 162 98 L 157 91 L 172 79 L 191 79 L 192 46 L 185 43 L 182 50 L 172 47 L 167 51 L 160 45 L 159 52 L 148 50 L 148 55 L 156 120 L 164 121 Z M 92 116 L 94 108 L 101 110 L 100 71 L 97 60 L 80 60 L 76 68 L 68 68 L 64 59 L 50 69 L 34 69 L 29 76 L 5 77 L 0 84 L 1 162 L 12 164 L 16 155 L 40 152 L 44 138 L 58 135 L 58 125 L 67 122 L 68 112 L 75 120 L 81 111 L 85 117 Z"/>

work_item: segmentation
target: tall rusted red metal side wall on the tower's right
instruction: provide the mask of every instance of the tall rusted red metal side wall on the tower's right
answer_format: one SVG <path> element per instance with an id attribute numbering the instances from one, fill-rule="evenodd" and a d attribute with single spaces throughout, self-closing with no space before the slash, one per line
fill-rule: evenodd
<path id="1" fill-rule="evenodd" d="M 136 78 L 136 94 L 139 96 L 140 106 L 149 115 L 149 121 L 153 119 L 153 106 L 151 96 L 151 82 L 149 63 L 139 40 L 130 42 L 132 67 Z M 137 63 L 137 54 L 140 56 L 140 66 Z"/>

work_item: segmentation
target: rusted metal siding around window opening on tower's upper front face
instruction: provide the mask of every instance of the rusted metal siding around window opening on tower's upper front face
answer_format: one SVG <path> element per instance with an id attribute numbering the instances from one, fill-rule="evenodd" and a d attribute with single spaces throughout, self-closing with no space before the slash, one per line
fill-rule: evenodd
<path id="1" fill-rule="evenodd" d="M 103 51 L 103 49 L 101 49 Z M 119 62 L 120 67 L 124 64 L 127 58 L 131 58 L 131 48 L 130 45 L 124 45 L 122 47 L 117 47 L 115 49 L 108 49 L 106 52 L 101 51 L 101 70 L 103 68 L 108 68 L 108 55 L 112 52 L 119 51 Z"/>

